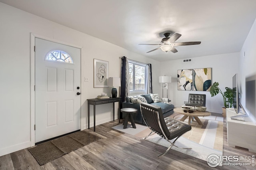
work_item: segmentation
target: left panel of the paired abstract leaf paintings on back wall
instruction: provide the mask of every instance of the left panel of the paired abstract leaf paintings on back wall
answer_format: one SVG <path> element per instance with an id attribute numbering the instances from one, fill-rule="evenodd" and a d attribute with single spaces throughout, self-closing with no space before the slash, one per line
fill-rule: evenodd
<path id="1" fill-rule="evenodd" d="M 178 70 L 178 90 L 192 90 L 193 69 Z"/>

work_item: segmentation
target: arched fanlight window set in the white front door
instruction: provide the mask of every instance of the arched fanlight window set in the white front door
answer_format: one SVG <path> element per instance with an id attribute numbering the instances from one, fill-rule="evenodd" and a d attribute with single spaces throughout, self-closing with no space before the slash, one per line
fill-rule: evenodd
<path id="1" fill-rule="evenodd" d="M 51 51 L 46 55 L 46 60 L 60 61 L 65 63 L 74 63 L 72 57 L 65 51 L 61 51 L 61 50 Z"/>

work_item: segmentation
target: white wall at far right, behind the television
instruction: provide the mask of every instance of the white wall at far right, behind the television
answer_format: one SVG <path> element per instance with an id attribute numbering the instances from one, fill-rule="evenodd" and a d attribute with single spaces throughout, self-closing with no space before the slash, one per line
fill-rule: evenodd
<path id="1" fill-rule="evenodd" d="M 246 95 L 245 95 L 245 79 L 252 75 L 256 75 L 256 20 L 252 25 L 252 28 L 244 42 L 242 50 L 240 51 L 240 63 L 239 63 L 239 74 L 238 74 L 238 83 L 239 90 L 241 93 L 241 104 L 246 109 Z M 244 56 L 245 54 L 245 56 Z M 255 103 L 256 104 L 256 103 Z M 247 110 L 247 109 L 246 109 Z M 256 113 L 249 113 L 248 115 L 256 123 Z"/>

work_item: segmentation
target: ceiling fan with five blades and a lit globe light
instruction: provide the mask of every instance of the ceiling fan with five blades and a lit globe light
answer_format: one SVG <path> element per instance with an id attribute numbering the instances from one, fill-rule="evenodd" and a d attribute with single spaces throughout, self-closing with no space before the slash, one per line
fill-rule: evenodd
<path id="1" fill-rule="evenodd" d="M 181 34 L 175 33 L 171 37 L 170 33 L 164 33 L 165 38 L 163 38 L 160 42 L 160 44 L 147 44 L 147 43 L 140 43 L 139 45 L 160 45 L 160 47 L 156 49 L 152 49 L 151 51 L 148 51 L 147 53 L 150 53 L 152 51 L 155 51 L 157 49 L 162 49 L 162 51 L 168 52 L 172 51 L 173 53 L 178 52 L 178 50 L 174 46 L 180 46 L 180 45 L 197 45 L 201 42 L 177 42 L 175 43 L 178 38 L 180 38 Z"/>

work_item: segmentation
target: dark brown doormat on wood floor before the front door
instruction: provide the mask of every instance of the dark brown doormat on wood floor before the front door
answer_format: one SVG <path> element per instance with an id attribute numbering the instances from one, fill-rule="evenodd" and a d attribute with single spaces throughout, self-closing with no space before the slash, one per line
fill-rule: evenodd
<path id="1" fill-rule="evenodd" d="M 40 165 L 46 164 L 60 156 L 90 144 L 100 137 L 85 131 L 79 131 L 28 149 Z"/>

